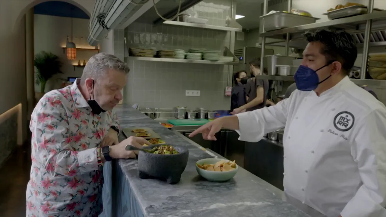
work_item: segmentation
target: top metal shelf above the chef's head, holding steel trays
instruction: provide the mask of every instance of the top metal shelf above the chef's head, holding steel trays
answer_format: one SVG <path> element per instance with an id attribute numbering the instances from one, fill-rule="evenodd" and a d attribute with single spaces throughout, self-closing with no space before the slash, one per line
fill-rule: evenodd
<path id="1" fill-rule="evenodd" d="M 274 31 L 268 31 L 268 32 L 260 32 L 259 37 L 270 37 L 270 38 L 278 38 L 278 39 L 286 39 L 286 34 L 290 33 L 291 39 L 295 39 L 293 37 L 296 35 L 296 33 L 303 34 L 305 31 L 312 30 L 312 29 L 319 29 L 323 27 L 340 27 L 344 28 L 345 31 L 349 33 L 358 33 L 358 32 L 364 32 L 365 29 L 363 27 L 360 27 L 360 25 L 366 25 L 367 20 L 373 21 L 373 28 L 374 30 L 380 30 L 380 29 L 386 29 L 386 10 L 383 11 L 375 11 L 369 14 L 362 14 L 357 15 L 353 17 L 345 17 L 335 20 L 328 20 L 324 22 L 316 22 L 313 24 L 306 24 L 306 25 L 299 25 L 295 27 L 289 27 L 284 29 L 278 29 Z M 299 37 L 299 36 L 298 36 Z"/>

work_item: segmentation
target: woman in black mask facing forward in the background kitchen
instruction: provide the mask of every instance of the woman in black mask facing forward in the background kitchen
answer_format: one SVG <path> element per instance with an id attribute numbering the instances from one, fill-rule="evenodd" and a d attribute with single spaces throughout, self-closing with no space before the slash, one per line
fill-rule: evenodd
<path id="1" fill-rule="evenodd" d="M 232 96 L 230 100 L 230 110 L 232 111 L 247 103 L 247 95 L 244 87 L 245 83 L 242 83 L 242 80 L 245 81 L 245 79 L 248 79 L 245 70 L 238 71 L 233 75 L 235 86 L 232 87 Z"/>

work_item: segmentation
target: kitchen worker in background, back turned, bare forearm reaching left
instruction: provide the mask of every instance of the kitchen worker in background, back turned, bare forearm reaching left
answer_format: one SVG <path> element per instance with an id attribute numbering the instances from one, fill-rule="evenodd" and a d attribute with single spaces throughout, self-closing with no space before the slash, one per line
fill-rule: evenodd
<path id="1" fill-rule="evenodd" d="M 256 75 L 260 74 L 260 58 L 255 58 L 249 63 L 249 70 L 252 78 L 249 78 L 245 85 L 245 92 L 248 96 L 247 103 L 239 108 L 234 108 L 231 114 L 253 111 L 265 107 L 266 104 L 274 105 L 273 102 L 267 100 L 268 80 L 256 79 Z M 266 69 L 264 69 L 264 74 L 267 74 Z"/>

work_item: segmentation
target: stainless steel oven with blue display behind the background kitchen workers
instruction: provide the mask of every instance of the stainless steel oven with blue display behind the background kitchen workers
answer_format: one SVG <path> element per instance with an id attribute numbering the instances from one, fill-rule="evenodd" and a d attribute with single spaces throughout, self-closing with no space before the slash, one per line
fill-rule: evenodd
<path id="1" fill-rule="evenodd" d="M 251 71 L 249 71 L 249 63 L 255 59 L 261 57 L 261 48 L 260 47 L 244 47 L 242 49 L 235 49 L 234 52 L 236 58 L 239 59 L 240 64 L 233 66 L 233 72 L 245 70 L 247 75 L 251 75 Z M 265 55 L 272 55 L 273 49 L 264 49 Z M 267 68 L 268 62 L 267 58 L 264 57 L 264 68 Z"/>

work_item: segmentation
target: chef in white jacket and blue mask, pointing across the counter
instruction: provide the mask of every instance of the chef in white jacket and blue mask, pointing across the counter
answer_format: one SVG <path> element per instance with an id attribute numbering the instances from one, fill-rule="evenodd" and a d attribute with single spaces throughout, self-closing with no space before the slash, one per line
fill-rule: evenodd
<path id="1" fill-rule="evenodd" d="M 386 217 L 386 109 L 347 73 L 357 47 L 347 32 L 305 34 L 298 90 L 278 104 L 223 117 L 190 136 L 215 140 L 222 127 L 257 142 L 285 127 L 284 193 L 311 216 Z"/>

